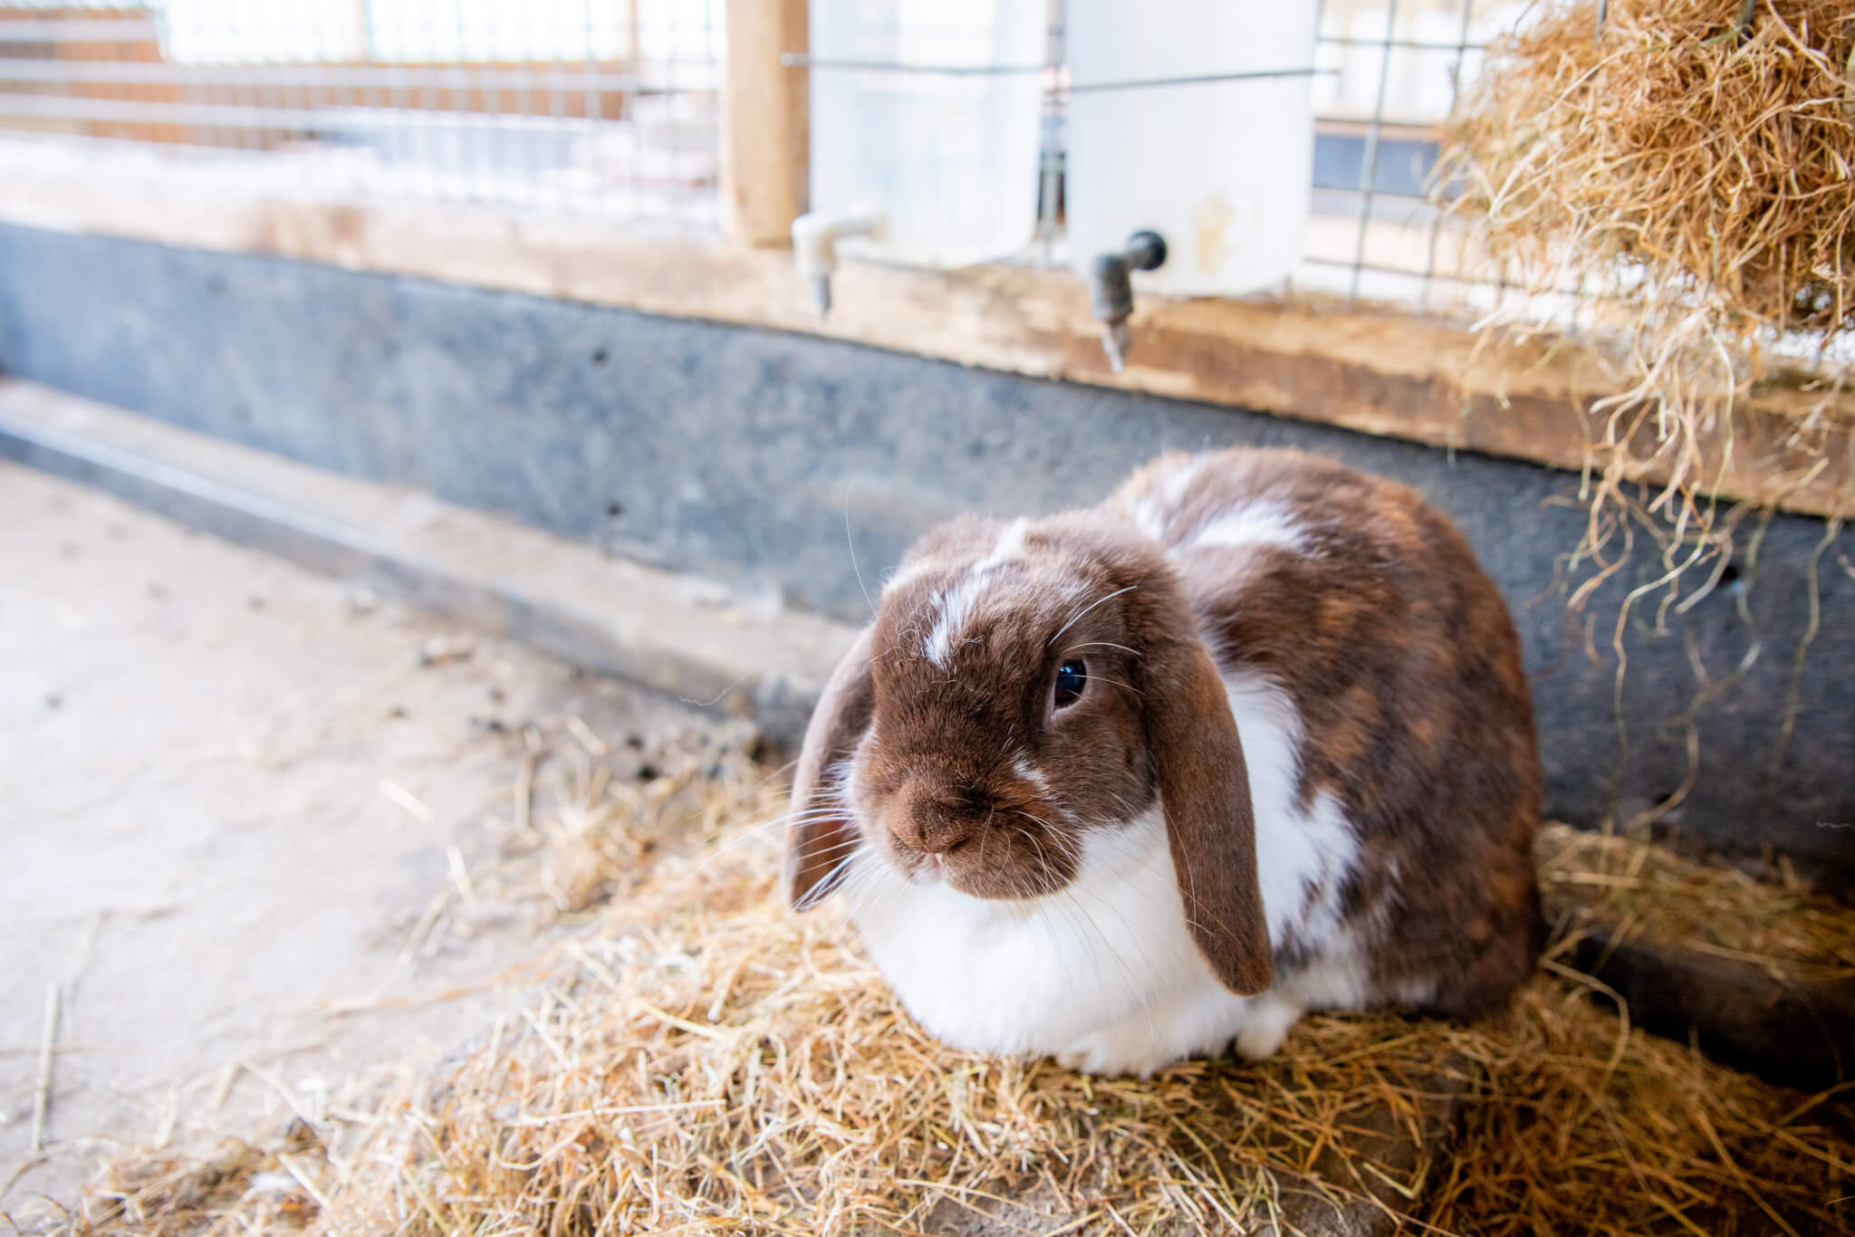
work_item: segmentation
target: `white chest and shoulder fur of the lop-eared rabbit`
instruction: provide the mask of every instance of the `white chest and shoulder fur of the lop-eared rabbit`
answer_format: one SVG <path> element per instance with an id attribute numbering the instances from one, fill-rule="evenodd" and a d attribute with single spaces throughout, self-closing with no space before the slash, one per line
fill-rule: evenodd
<path id="1" fill-rule="evenodd" d="M 1222 1052 L 1273 1053 L 1308 1007 L 1367 1000 L 1337 888 L 1358 840 L 1328 796 L 1295 805 L 1300 729 L 1267 679 L 1237 670 L 1224 690 L 1243 740 L 1271 944 L 1293 929 L 1313 957 L 1254 998 L 1226 990 L 1185 912 L 1158 805 L 1083 835 L 1076 879 L 1033 901 L 915 885 L 864 849 L 853 916 L 876 964 L 922 1026 L 1000 1055 L 1054 1055 L 1096 1074 L 1150 1074 Z"/>

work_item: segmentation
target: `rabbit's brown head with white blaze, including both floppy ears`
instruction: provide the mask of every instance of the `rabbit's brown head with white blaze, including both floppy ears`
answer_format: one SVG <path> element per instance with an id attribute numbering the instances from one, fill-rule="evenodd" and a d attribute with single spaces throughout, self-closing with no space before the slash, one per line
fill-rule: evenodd
<path id="1" fill-rule="evenodd" d="M 1089 831 L 1156 803 L 1206 961 L 1269 987 L 1243 747 L 1172 567 L 1091 514 L 961 519 L 903 560 L 818 703 L 788 892 L 829 894 L 868 842 L 915 881 L 1041 898 Z"/>

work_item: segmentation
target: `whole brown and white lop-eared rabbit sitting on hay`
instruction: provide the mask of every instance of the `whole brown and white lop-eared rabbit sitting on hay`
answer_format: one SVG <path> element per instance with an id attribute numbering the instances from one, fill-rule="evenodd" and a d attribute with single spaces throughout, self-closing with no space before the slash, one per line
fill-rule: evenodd
<path id="1" fill-rule="evenodd" d="M 805 733 L 787 879 L 946 1042 L 1148 1074 L 1308 1009 L 1499 1007 L 1538 816 L 1519 640 L 1443 516 L 1169 454 L 915 545 Z"/>

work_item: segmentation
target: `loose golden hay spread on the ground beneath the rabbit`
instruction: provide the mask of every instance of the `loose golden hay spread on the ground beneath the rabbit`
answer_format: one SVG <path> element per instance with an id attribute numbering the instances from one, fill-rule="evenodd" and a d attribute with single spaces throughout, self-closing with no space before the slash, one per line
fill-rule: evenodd
<path id="1" fill-rule="evenodd" d="M 777 810 L 775 788 L 731 799 L 725 846 L 659 859 L 434 1076 L 356 1092 L 282 1159 L 119 1161 L 69 1231 L 1323 1231 L 1336 1209 L 1349 1231 L 1855 1224 L 1846 1107 L 1632 1031 L 1556 963 L 1490 1024 L 1310 1018 L 1261 1066 L 1124 1081 L 952 1052 L 837 911 L 779 903 L 768 831 L 738 823 Z M 1588 855 L 1562 842 L 1549 883 L 1579 886 L 1560 877 Z M 1777 905 L 1747 886 L 1714 927 Z M 301 1187 L 288 1205 L 273 1159 Z"/>

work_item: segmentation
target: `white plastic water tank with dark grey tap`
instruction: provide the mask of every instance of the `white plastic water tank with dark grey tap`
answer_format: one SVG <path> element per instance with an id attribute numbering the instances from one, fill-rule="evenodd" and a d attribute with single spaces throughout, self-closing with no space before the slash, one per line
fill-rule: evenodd
<path id="1" fill-rule="evenodd" d="M 1167 241 L 1137 289 L 1237 295 L 1300 260 L 1313 176 L 1310 78 L 1117 82 L 1304 70 L 1313 0 L 1068 0 L 1070 254 L 1078 269 L 1132 232 Z"/>

